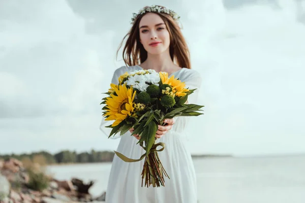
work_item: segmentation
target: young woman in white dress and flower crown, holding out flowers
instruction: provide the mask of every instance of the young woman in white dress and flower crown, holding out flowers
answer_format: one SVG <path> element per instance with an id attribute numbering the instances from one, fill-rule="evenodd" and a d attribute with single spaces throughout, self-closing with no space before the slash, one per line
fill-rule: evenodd
<path id="1" fill-rule="evenodd" d="M 191 69 L 188 46 L 177 24 L 179 17 L 172 10 L 161 6 L 144 7 L 132 18 L 132 27 L 123 51 L 126 66 L 115 70 L 112 83 L 118 84 L 118 77 L 126 72 L 154 69 L 174 75 L 186 87 L 197 88 L 189 95 L 190 104 L 196 104 L 201 77 Z M 125 40 L 123 39 L 123 41 Z M 122 42 L 123 43 L 123 42 Z M 121 45 L 122 45 L 121 43 Z M 121 47 L 120 45 L 120 47 Z M 140 64 L 139 64 L 140 62 Z M 185 127 L 189 117 L 167 119 L 167 125 L 159 125 L 156 137 L 166 144 L 159 152 L 160 160 L 169 175 L 165 177 L 165 187 L 141 187 L 141 172 L 144 159 L 138 162 L 124 162 L 114 156 L 109 176 L 106 202 L 148 203 L 148 202 L 197 202 L 196 176 L 190 152 L 186 149 Z M 100 129 L 108 137 L 112 122 L 102 121 Z M 138 144 L 139 136 L 130 136 L 133 129 L 121 136 L 117 151 L 125 156 L 138 159 L 144 153 Z M 111 138 L 119 138 L 119 133 Z"/>

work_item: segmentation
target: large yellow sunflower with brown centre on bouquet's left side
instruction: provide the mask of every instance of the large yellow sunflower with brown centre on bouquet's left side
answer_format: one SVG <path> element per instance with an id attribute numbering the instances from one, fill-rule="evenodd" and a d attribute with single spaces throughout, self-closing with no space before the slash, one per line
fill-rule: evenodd
<path id="1" fill-rule="evenodd" d="M 119 85 L 118 88 L 114 87 L 114 91 L 117 96 L 110 94 L 105 102 L 108 108 L 105 116 L 109 116 L 105 120 L 115 120 L 111 125 L 112 127 L 132 114 L 134 110 L 133 100 L 136 95 L 136 91 L 133 91 L 132 88 L 128 89 L 125 84 Z"/>

